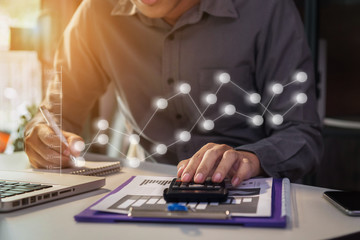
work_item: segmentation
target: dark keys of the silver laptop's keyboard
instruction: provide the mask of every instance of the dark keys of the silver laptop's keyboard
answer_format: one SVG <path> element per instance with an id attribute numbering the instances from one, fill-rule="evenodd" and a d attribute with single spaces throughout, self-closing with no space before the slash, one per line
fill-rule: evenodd
<path id="1" fill-rule="evenodd" d="M 15 195 L 19 195 L 27 192 L 33 192 L 50 187 L 52 186 L 44 185 L 44 184 L 0 181 L 0 198 L 12 197 Z"/>

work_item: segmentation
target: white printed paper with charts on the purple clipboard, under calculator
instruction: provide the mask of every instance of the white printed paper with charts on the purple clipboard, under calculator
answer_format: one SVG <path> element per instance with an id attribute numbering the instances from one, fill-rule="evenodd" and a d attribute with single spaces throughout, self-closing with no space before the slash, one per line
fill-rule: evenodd
<path id="1" fill-rule="evenodd" d="M 130 208 L 164 211 L 167 207 L 163 191 L 168 188 L 172 177 L 136 176 L 120 191 L 108 196 L 91 210 L 128 214 Z M 196 212 L 224 212 L 239 217 L 270 217 L 272 178 L 253 178 L 234 188 L 227 182 L 229 191 L 225 202 L 186 202 Z"/>

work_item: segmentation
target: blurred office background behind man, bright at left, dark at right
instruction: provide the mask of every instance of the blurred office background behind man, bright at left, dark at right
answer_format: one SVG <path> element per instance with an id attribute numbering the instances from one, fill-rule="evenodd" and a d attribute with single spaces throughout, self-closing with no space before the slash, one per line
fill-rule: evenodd
<path id="1" fill-rule="evenodd" d="M 360 190 L 360 0 L 294 1 L 316 60 L 318 107 L 324 122 L 324 157 L 319 170 L 304 182 Z M 54 75 L 58 40 L 80 3 L 0 0 L 0 152 L 21 150 L 21 141 L 16 142 L 19 126 L 21 130 L 21 124 L 31 117 L 29 106 L 36 108 Z M 89 117 L 84 131 L 88 141 L 97 131 L 94 120 L 108 119 L 121 127 L 112 121 L 119 118 L 118 113 L 113 116 L 115 106 L 109 90 Z M 91 151 L 116 156 L 96 144 Z"/>

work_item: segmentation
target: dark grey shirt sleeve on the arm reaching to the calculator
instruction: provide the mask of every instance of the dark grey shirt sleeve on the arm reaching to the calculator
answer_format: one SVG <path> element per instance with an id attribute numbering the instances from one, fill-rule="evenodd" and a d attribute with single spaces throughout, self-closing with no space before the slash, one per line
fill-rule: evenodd
<path id="1" fill-rule="evenodd" d="M 268 3 L 271 5 L 269 14 L 264 18 L 256 43 L 255 73 L 264 103 L 261 127 L 267 137 L 236 147 L 236 150 L 255 153 L 269 176 L 288 177 L 294 181 L 317 167 L 323 148 L 313 62 L 293 1 Z M 305 72 L 307 81 L 294 81 L 297 71 Z M 281 94 L 272 92 L 275 83 L 284 86 Z M 296 104 L 299 93 L 306 94 L 306 103 Z M 268 111 L 265 111 L 267 106 Z M 276 114 L 283 116 L 280 125 L 272 122 Z"/>

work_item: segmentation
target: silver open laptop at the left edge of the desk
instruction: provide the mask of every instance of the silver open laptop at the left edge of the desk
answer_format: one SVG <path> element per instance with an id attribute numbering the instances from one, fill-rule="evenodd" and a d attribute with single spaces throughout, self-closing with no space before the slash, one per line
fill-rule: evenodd
<path id="1" fill-rule="evenodd" d="M 105 178 L 0 171 L 0 212 L 10 212 L 101 188 Z"/>

